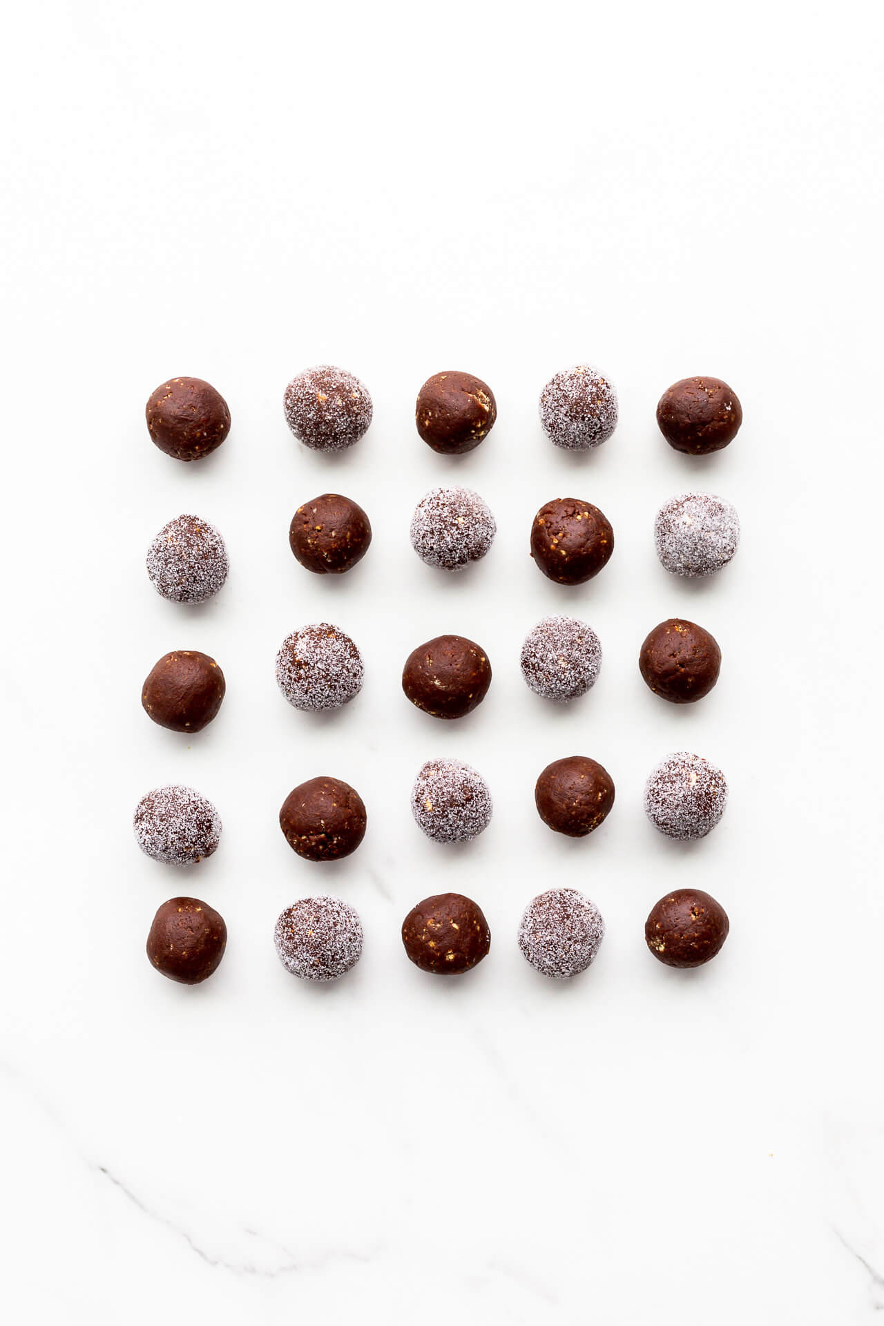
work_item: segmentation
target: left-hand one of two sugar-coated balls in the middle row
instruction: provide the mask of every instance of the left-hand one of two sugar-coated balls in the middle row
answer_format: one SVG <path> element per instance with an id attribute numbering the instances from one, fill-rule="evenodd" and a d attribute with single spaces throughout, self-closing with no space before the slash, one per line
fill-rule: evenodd
<path id="1" fill-rule="evenodd" d="M 296 709 L 339 709 L 362 690 L 362 655 L 330 622 L 292 631 L 276 656 L 276 679 Z"/>

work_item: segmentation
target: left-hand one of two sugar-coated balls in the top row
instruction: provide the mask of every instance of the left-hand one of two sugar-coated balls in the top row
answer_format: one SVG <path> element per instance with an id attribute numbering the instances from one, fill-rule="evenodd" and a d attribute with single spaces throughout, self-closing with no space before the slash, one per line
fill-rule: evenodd
<path id="1" fill-rule="evenodd" d="M 359 378 L 321 363 L 292 378 L 285 389 L 289 428 L 313 451 L 345 451 L 371 423 L 371 396 Z"/>

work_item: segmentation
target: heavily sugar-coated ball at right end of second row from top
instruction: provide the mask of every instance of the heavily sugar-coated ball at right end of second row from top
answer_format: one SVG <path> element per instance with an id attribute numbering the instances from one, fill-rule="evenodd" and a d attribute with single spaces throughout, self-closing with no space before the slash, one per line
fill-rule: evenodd
<path id="1" fill-rule="evenodd" d="M 737 552 L 740 517 L 729 501 L 714 493 L 681 493 L 657 512 L 653 538 L 668 572 L 712 575 Z"/>

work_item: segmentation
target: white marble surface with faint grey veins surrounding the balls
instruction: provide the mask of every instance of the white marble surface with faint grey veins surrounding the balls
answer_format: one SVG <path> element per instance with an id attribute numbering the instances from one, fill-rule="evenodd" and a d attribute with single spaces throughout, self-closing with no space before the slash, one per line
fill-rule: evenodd
<path id="1" fill-rule="evenodd" d="M 803 1326 L 884 1303 L 880 1091 L 880 68 L 877 7 L 786 3 L 331 7 L 33 4 L 7 21 L 3 90 L 4 1306 L 12 1322 L 586 1322 Z M 588 359 L 620 426 L 588 456 L 537 420 Z M 297 444 L 288 378 L 355 371 L 374 424 L 342 457 Z M 485 378 L 498 422 L 445 459 L 414 430 L 425 377 Z M 745 423 L 672 452 L 655 406 L 724 377 Z M 204 377 L 233 427 L 180 465 L 143 407 Z M 461 578 L 408 545 L 417 499 L 474 487 L 498 537 Z M 691 487 L 742 518 L 701 583 L 657 565 L 656 508 Z M 351 574 L 288 549 L 326 489 L 370 513 Z M 527 557 L 535 509 L 578 496 L 616 550 L 590 585 Z M 179 512 L 231 554 L 195 611 L 144 549 Z M 602 639 L 562 709 L 518 670 L 526 630 L 573 611 Z M 660 619 L 709 627 L 717 690 L 681 709 L 640 680 Z M 330 619 L 362 695 L 317 719 L 273 659 Z M 478 639 L 494 680 L 441 724 L 399 688 L 431 635 Z M 152 725 L 140 683 L 171 648 L 219 659 L 196 739 Z M 730 805 L 704 842 L 644 819 L 673 749 L 716 760 Z M 599 758 L 616 805 L 549 833 L 537 773 Z M 460 756 L 496 813 L 463 850 L 424 839 L 408 792 Z M 364 845 L 315 866 L 277 812 L 331 773 Z M 221 846 L 182 874 L 143 858 L 138 797 L 209 796 Z M 668 888 L 710 890 L 730 939 L 679 973 L 643 940 Z M 529 898 L 574 884 L 607 937 L 571 984 L 516 947 Z M 492 927 L 463 980 L 420 973 L 399 926 L 463 890 Z M 227 919 L 188 989 L 144 957 L 155 908 Z M 310 891 L 358 907 L 364 957 L 306 988 L 273 952 Z"/>

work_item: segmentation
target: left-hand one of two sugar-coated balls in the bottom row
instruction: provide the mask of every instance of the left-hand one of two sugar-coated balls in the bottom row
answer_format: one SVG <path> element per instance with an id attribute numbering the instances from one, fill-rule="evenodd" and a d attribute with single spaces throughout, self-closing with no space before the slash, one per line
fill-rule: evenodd
<path id="1" fill-rule="evenodd" d="M 341 898 L 302 898 L 281 914 L 273 943 L 286 972 L 337 981 L 362 957 L 362 922 Z"/>

